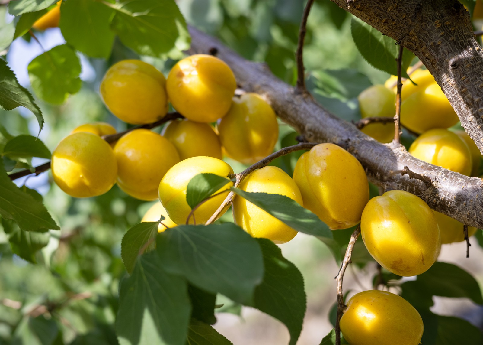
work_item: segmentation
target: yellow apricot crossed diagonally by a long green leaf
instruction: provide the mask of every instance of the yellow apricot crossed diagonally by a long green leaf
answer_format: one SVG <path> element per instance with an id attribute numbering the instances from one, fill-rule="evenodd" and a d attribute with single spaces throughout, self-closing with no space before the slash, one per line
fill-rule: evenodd
<path id="1" fill-rule="evenodd" d="M 303 206 L 302 195 L 294 180 L 276 166 L 265 166 L 252 172 L 241 182 L 239 188 L 246 192 L 285 195 Z M 280 244 L 297 235 L 296 230 L 239 195 L 233 200 L 232 210 L 235 224 L 240 225 L 252 237 L 269 239 Z"/>

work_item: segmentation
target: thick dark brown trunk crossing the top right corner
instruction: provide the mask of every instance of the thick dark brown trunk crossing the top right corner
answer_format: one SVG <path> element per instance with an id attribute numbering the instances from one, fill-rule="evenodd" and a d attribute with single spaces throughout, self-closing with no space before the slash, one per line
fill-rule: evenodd
<path id="1" fill-rule="evenodd" d="M 457 0 L 332 1 L 416 54 L 483 153 L 483 51 L 464 6 Z"/>

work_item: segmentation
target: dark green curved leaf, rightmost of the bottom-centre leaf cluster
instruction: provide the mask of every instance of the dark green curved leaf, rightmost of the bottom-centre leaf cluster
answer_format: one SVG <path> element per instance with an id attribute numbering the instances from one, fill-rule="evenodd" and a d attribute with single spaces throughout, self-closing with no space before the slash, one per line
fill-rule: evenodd
<path id="1" fill-rule="evenodd" d="M 256 240 L 262 250 L 265 273 L 255 289 L 253 307 L 282 321 L 290 333 L 289 344 L 296 344 L 307 308 L 302 274 L 272 241 Z"/>

